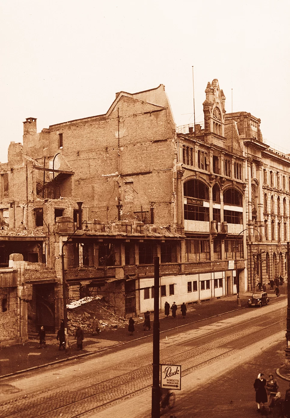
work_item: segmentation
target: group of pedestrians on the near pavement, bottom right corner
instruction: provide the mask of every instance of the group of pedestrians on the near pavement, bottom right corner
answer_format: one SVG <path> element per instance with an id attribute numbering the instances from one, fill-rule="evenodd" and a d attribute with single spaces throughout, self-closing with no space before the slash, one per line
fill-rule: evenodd
<path id="1" fill-rule="evenodd" d="M 269 375 L 269 380 L 264 378 L 263 373 L 259 373 L 254 382 L 256 391 L 257 411 L 262 415 L 267 415 L 265 403 L 268 403 L 269 396 L 269 413 L 273 418 L 290 418 L 290 387 L 286 390 L 285 399 L 278 392 L 277 380 L 274 375 Z"/>

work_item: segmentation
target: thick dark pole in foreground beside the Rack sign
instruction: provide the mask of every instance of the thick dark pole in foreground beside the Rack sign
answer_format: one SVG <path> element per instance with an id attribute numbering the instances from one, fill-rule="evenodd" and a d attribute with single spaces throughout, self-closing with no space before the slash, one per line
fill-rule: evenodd
<path id="1" fill-rule="evenodd" d="M 151 417 L 160 418 L 159 359 L 159 257 L 154 257 L 153 385 Z"/>

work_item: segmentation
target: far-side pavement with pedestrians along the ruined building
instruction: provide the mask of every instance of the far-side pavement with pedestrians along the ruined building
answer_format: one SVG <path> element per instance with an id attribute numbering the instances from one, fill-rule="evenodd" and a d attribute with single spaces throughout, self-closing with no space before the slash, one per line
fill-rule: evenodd
<path id="1" fill-rule="evenodd" d="M 268 291 L 270 303 L 275 303 L 276 300 L 285 298 L 287 293 L 287 287 L 280 286 L 281 296 L 275 297 L 273 291 Z M 233 315 L 239 315 L 244 312 L 243 308 L 247 308 L 247 300 L 250 298 L 251 293 L 243 293 L 240 295 L 242 309 L 237 306 L 237 296 L 228 296 L 221 299 L 211 299 L 210 301 L 202 302 L 201 304 L 188 304 L 187 316 L 182 318 L 180 313 L 180 306 L 177 310 L 176 318 L 164 317 L 164 312 L 160 313 L 160 331 L 166 331 L 174 329 L 184 324 L 190 324 L 201 321 L 203 319 L 209 319 L 213 316 L 221 315 L 227 312 L 232 312 Z M 143 325 L 136 324 L 134 336 L 130 336 L 127 325 L 125 328 L 117 328 L 101 331 L 99 336 L 91 336 L 85 334 L 83 342 L 83 351 L 78 352 L 76 350 L 76 341 L 73 337 L 69 337 L 71 349 L 68 354 L 64 350 L 58 350 L 58 341 L 56 335 L 48 334 L 46 336 L 46 348 L 38 349 L 37 335 L 30 335 L 29 341 L 25 344 L 16 344 L 10 347 L 0 347 L 0 377 L 10 375 L 16 372 L 25 371 L 30 368 L 41 367 L 45 364 L 64 361 L 69 358 L 74 358 L 79 354 L 89 354 L 92 352 L 98 352 L 108 347 L 124 345 L 130 341 L 138 340 L 140 344 L 147 336 L 152 335 L 153 328 L 153 314 L 151 314 L 151 331 L 144 331 Z"/>

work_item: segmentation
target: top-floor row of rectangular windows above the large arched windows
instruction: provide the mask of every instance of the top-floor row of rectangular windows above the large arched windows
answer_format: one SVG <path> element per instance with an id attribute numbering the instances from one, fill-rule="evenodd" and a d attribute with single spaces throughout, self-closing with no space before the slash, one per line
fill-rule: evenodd
<path id="1" fill-rule="evenodd" d="M 182 161 L 187 166 L 194 166 L 194 148 L 187 145 L 182 147 Z M 197 151 L 197 166 L 201 170 L 209 171 L 209 156 L 206 151 Z M 217 155 L 212 156 L 212 170 L 215 174 L 221 174 L 219 157 Z M 232 161 L 224 159 L 224 176 L 231 177 L 232 175 Z M 234 178 L 242 180 L 242 164 L 234 163 Z"/>

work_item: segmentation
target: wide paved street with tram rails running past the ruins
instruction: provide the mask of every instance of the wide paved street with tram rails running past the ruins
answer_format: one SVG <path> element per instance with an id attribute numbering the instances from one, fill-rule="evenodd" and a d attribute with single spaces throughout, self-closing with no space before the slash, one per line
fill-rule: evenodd
<path id="1" fill-rule="evenodd" d="M 260 347 L 265 337 L 267 345 L 276 341 L 277 333 L 285 329 L 285 307 L 286 300 L 282 300 L 261 309 L 245 310 L 240 316 L 227 314 L 215 321 L 169 330 L 161 334 L 161 362 L 182 364 L 187 393 L 194 389 L 193 377 L 195 387 L 201 382 L 207 384 L 215 372 L 221 373 L 229 364 L 240 361 L 240 353 Z M 123 350 L 112 347 L 111 353 L 2 380 L 0 418 L 121 416 L 124 399 L 125 403 L 131 402 L 126 416 L 149 416 L 151 352 L 149 337 L 141 345 L 132 343 Z"/>

